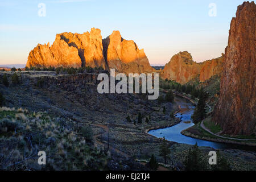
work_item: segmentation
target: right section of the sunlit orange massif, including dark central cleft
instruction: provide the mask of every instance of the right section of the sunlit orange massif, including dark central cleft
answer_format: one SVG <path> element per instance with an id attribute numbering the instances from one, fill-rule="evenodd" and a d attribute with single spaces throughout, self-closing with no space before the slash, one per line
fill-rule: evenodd
<path id="1" fill-rule="evenodd" d="M 108 38 L 102 40 L 104 56 L 109 69 L 115 68 L 122 73 L 152 72 L 147 56 L 133 40 L 125 40 L 119 31 L 113 31 Z"/>

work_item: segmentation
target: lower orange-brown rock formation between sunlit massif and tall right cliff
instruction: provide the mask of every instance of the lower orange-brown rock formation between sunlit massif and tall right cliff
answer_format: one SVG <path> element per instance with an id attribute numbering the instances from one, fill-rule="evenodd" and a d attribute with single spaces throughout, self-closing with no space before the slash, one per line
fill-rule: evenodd
<path id="1" fill-rule="evenodd" d="M 200 81 L 208 80 L 213 75 L 220 74 L 222 70 L 223 55 L 216 59 L 196 63 L 187 51 L 179 52 L 172 56 L 161 72 L 162 78 L 167 78 L 185 84 L 197 75 Z"/>

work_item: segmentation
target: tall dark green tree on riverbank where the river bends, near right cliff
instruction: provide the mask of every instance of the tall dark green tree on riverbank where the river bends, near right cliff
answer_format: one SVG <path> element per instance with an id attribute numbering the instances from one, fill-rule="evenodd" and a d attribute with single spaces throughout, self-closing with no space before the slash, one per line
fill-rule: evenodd
<path id="1" fill-rule="evenodd" d="M 196 105 L 196 109 L 195 109 L 193 115 L 191 116 L 194 123 L 201 122 L 205 118 L 205 115 L 206 115 L 205 101 L 206 101 L 206 99 L 207 99 L 207 94 L 205 94 L 203 92 L 200 93 L 200 98 Z"/>

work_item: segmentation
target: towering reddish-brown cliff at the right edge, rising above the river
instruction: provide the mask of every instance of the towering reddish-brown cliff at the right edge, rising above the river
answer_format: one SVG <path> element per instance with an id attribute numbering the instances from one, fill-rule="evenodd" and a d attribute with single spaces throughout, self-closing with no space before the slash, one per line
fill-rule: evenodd
<path id="1" fill-rule="evenodd" d="M 230 24 L 220 99 L 213 118 L 226 134 L 256 134 L 255 13 L 254 2 L 244 2 Z"/>

